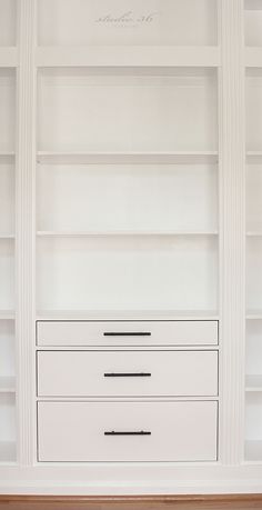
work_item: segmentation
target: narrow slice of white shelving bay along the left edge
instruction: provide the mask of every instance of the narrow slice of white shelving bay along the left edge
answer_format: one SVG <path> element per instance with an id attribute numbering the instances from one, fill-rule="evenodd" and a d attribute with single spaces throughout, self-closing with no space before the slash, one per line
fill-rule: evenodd
<path id="1" fill-rule="evenodd" d="M 16 461 L 14 0 L 0 0 L 0 464 Z"/>

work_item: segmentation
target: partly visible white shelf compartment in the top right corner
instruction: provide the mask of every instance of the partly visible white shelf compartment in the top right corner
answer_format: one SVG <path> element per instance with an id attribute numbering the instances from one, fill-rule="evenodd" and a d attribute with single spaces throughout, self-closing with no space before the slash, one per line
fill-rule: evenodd
<path id="1" fill-rule="evenodd" d="M 245 44 L 262 46 L 262 0 L 245 0 Z"/>

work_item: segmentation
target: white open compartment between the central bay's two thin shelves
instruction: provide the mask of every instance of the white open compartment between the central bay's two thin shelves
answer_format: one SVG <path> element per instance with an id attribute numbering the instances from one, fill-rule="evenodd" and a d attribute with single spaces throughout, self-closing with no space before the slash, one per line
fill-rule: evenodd
<path id="1" fill-rule="evenodd" d="M 218 167 L 39 164 L 37 229 L 218 231 Z"/>

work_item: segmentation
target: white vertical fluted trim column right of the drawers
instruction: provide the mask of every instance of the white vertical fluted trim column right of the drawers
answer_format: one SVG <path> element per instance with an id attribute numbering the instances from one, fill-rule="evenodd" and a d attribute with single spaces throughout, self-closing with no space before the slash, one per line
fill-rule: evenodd
<path id="1" fill-rule="evenodd" d="M 245 114 L 243 0 L 220 0 L 220 458 L 242 461 L 245 337 Z"/>

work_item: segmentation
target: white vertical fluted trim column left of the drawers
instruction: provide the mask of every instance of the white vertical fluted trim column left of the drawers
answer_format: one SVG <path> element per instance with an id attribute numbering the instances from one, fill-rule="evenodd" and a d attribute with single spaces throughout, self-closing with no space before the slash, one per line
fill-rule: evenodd
<path id="1" fill-rule="evenodd" d="M 36 166 L 36 0 L 19 0 L 17 71 L 17 347 L 18 461 L 34 458 L 34 166 Z"/>

